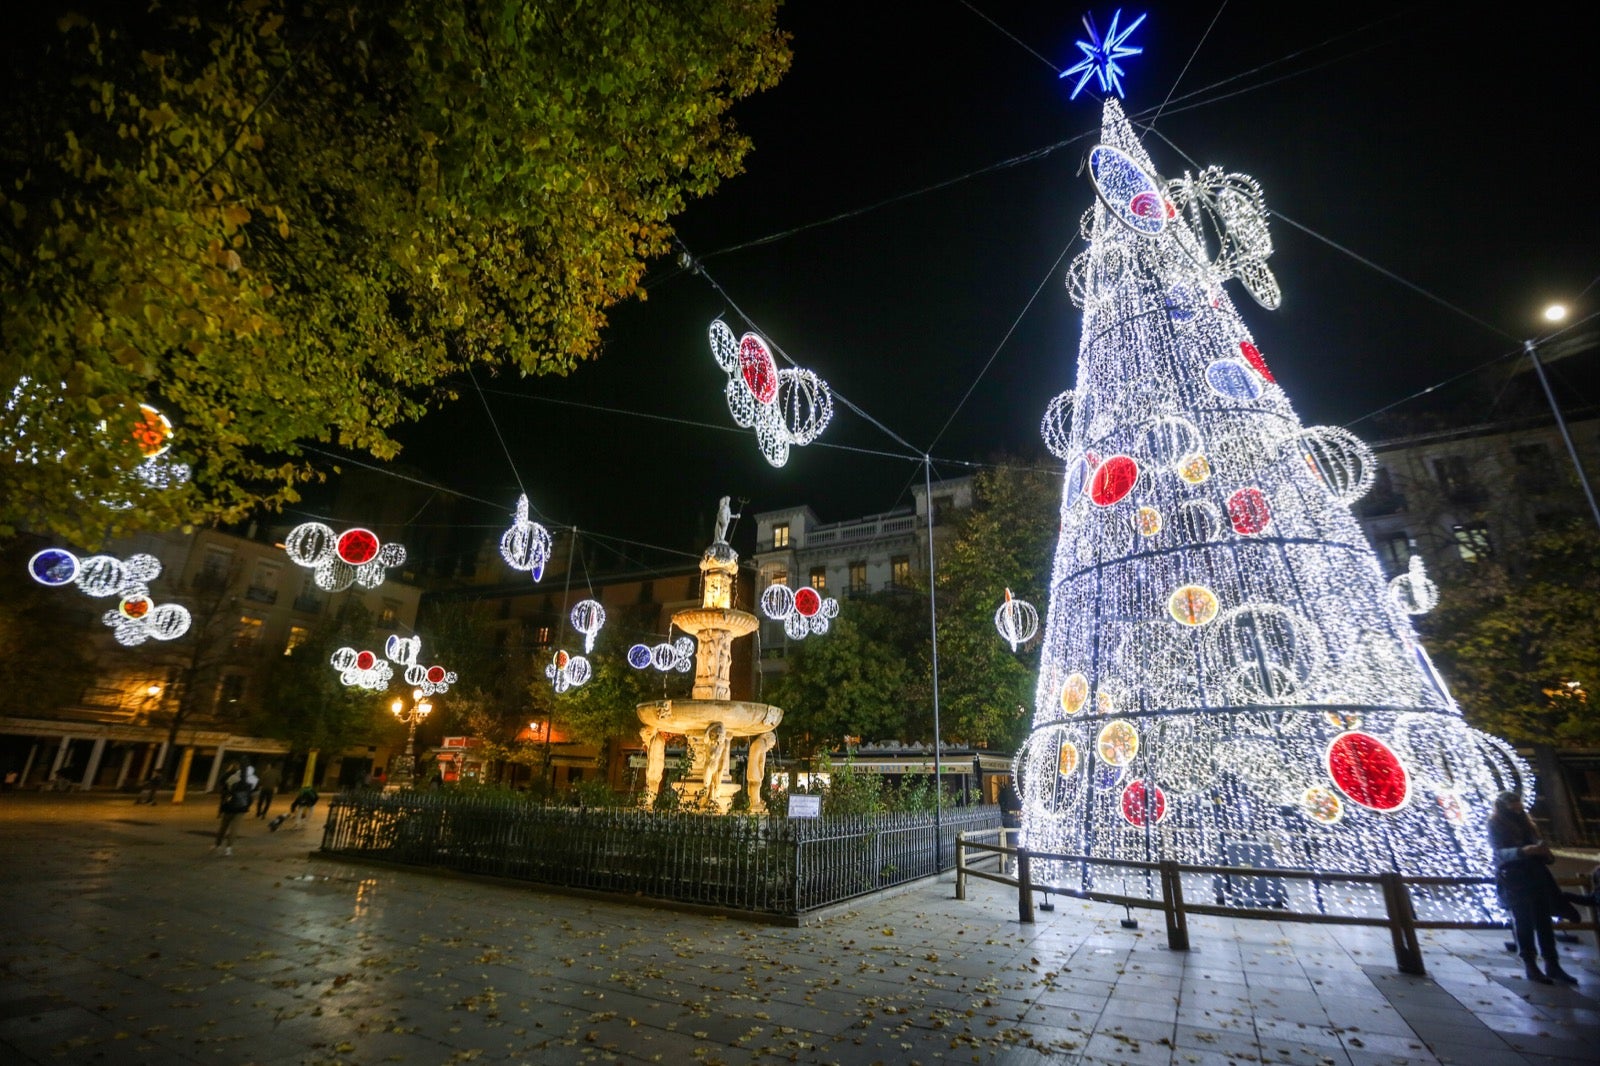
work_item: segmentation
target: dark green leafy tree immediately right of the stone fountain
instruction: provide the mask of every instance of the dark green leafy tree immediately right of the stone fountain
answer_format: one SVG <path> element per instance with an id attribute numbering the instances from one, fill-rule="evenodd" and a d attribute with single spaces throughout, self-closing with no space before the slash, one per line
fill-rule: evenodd
<path id="1" fill-rule="evenodd" d="M 867 739 L 922 739 L 926 715 L 926 613 L 906 610 L 902 595 L 854 599 L 826 637 L 792 647 L 789 669 L 766 698 L 784 709 L 778 727 L 790 754 L 810 755 Z M 918 637 L 920 629 L 920 637 Z M 926 719 L 926 720 L 922 720 Z"/>

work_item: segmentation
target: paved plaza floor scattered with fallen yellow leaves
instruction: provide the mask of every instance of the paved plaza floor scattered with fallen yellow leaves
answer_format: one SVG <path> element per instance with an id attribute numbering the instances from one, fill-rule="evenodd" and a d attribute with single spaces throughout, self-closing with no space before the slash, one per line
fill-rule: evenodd
<path id="1" fill-rule="evenodd" d="M 312 860 L 317 829 L 214 799 L 0 795 L 0 1061 L 1406 1063 L 1600 1061 L 1600 965 L 1534 986 L 1502 933 L 1152 916 L 949 877 L 774 928 Z M 280 805 L 282 810 L 282 805 Z M 318 820 L 320 823 L 320 820 Z"/>

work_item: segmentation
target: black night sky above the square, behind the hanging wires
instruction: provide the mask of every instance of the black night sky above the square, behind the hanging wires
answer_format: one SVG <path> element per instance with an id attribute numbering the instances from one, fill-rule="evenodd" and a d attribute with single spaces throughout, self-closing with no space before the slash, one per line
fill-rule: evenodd
<path id="1" fill-rule="evenodd" d="M 1190 166 L 1182 154 L 1251 174 L 1270 210 L 1461 309 L 1275 219 L 1282 309 L 1229 290 L 1306 424 L 1349 424 L 1517 349 L 1549 299 L 1576 317 L 1600 306 L 1600 285 L 1579 296 L 1600 275 L 1592 13 L 1230 0 L 1128 6 L 1123 22 L 1146 10 L 1125 107 L 1149 120 L 1171 94 L 1160 136 L 1146 138 L 1163 178 Z M 736 109 L 755 141 L 746 173 L 677 219 L 750 320 L 706 277 L 662 261 L 648 301 L 613 311 L 598 360 L 565 379 L 480 371 L 515 474 L 462 383 L 461 402 L 403 434 L 408 466 L 504 498 L 506 514 L 458 501 L 454 543 L 496 535 L 517 475 L 552 525 L 698 551 L 725 493 L 747 498 L 747 512 L 810 503 L 827 522 L 910 503 L 922 466 L 907 456 L 923 451 L 934 477 L 1000 455 L 1048 459 L 1038 421 L 1072 386 L 1080 327 L 1062 282 L 1083 243 L 1067 245 L 1093 202 L 1077 171 L 1099 128 L 1090 90 L 1069 101 L 1056 77 L 1075 62 L 1083 11 L 786 6 L 794 66 Z M 1094 8 L 1102 29 L 1112 11 Z M 770 467 L 728 416 L 706 343 L 718 314 L 882 429 L 840 405 L 818 443 Z M 1507 375 L 1509 363 L 1430 402 L 1459 421 L 1491 418 Z M 1371 421 L 1354 429 L 1382 435 Z M 747 552 L 750 538 L 746 522 L 734 546 Z"/>

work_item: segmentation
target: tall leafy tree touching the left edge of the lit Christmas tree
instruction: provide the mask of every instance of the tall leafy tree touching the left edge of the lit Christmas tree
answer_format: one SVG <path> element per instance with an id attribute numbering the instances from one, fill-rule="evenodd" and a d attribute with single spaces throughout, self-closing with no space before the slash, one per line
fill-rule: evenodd
<path id="1" fill-rule="evenodd" d="M 946 739 L 1010 749 L 1032 719 L 1038 640 L 1011 651 L 995 608 L 1013 597 L 1043 610 L 1050 595 L 1061 477 L 1005 464 L 973 479 L 973 506 L 938 560 L 939 709 Z"/>

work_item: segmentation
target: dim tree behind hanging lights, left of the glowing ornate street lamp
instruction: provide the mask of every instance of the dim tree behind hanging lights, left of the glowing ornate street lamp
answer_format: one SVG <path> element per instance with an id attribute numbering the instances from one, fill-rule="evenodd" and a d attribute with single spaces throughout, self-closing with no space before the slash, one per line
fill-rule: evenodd
<path id="1" fill-rule="evenodd" d="M 251 728 L 301 751 L 333 752 L 370 741 L 384 725 L 392 727 L 382 693 L 341 683 L 330 666 L 336 648 L 363 647 L 371 632 L 371 611 L 346 602 L 290 655 L 272 656 L 262 679 L 261 711 Z"/>

